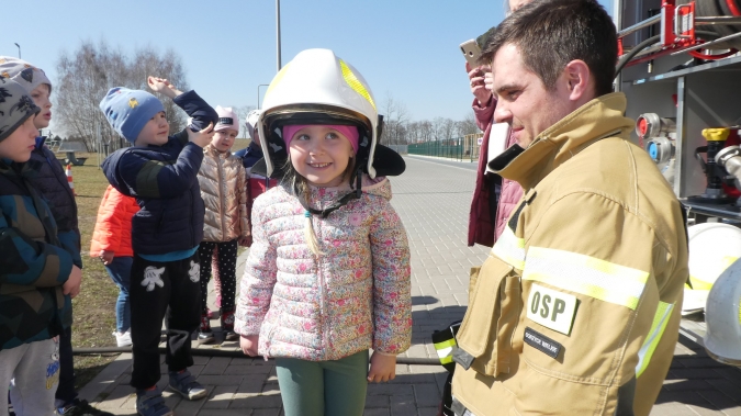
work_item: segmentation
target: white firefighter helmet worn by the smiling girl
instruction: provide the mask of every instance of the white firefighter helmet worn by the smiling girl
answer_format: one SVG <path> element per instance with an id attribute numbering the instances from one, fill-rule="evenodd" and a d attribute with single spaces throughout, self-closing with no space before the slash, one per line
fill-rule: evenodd
<path id="1" fill-rule="evenodd" d="M 377 145 L 382 117 L 368 82 L 329 49 L 303 50 L 276 75 L 265 93 L 257 124 L 268 177 L 288 157 L 281 127 L 290 124 L 355 125 L 360 133 L 359 168 L 371 178 L 404 171 L 401 156 Z M 254 169 L 259 170 L 257 166 Z"/>

